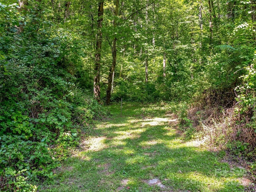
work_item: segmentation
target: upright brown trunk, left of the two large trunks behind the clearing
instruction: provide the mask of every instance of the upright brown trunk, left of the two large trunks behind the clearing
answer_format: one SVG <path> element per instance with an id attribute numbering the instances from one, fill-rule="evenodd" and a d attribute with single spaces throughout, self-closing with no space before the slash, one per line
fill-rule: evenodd
<path id="1" fill-rule="evenodd" d="M 103 5 L 104 0 L 99 0 L 98 3 L 98 20 L 97 20 L 97 39 L 96 39 L 96 53 L 94 63 L 94 83 L 93 92 L 94 97 L 100 102 L 100 56 L 102 47 L 102 21 L 103 21 Z"/>

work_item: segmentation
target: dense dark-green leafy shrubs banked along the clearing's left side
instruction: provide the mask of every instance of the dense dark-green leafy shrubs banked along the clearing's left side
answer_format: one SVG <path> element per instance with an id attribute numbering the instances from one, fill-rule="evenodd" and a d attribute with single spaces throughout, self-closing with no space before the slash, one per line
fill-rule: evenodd
<path id="1" fill-rule="evenodd" d="M 79 40 L 30 6 L 23 13 L 15 3 L 0 4 L 1 191 L 35 191 L 29 181 L 52 177 L 102 111 L 78 86 Z"/>

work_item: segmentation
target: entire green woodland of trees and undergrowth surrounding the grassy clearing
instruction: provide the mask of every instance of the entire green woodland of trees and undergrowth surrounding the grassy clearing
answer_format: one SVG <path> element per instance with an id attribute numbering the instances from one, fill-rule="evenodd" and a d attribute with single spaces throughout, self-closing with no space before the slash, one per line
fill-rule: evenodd
<path id="1" fill-rule="evenodd" d="M 193 103 L 180 112 L 188 138 L 255 160 L 255 10 L 254 0 L 3 0 L 1 189 L 36 190 L 29 181 L 53 175 L 109 100 Z"/>

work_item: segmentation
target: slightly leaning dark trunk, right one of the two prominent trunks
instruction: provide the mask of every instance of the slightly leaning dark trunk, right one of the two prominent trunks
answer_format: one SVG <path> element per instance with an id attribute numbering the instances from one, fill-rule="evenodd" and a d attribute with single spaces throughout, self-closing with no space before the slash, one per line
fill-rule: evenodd
<path id="1" fill-rule="evenodd" d="M 119 8 L 119 0 L 115 0 L 115 17 L 118 16 L 118 8 Z M 114 26 L 114 33 L 116 32 L 116 18 L 114 19 L 113 26 Z M 108 74 L 108 88 L 107 88 L 107 98 L 106 98 L 106 104 L 110 104 L 110 98 L 111 98 L 111 88 L 112 88 L 112 82 L 113 82 L 113 74 L 116 67 L 116 35 L 114 35 L 113 43 L 112 43 L 112 65 L 110 67 L 110 72 Z"/>

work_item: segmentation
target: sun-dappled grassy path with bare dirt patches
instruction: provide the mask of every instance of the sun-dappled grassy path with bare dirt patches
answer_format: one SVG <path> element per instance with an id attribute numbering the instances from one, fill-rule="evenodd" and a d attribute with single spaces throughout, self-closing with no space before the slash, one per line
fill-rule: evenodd
<path id="1" fill-rule="evenodd" d="M 108 106 L 109 119 L 86 132 L 78 150 L 44 182 L 44 192 L 238 192 L 249 184 L 200 143 L 186 141 L 164 104 Z"/>

